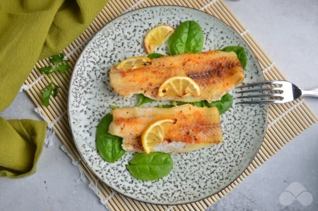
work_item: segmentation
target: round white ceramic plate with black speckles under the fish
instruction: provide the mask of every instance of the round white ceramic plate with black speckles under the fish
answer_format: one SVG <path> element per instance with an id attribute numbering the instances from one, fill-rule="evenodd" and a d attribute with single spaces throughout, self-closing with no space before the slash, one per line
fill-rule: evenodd
<path id="1" fill-rule="evenodd" d="M 229 45 L 245 47 L 248 62 L 244 83 L 264 80 L 259 63 L 240 35 L 207 13 L 180 6 L 147 7 L 115 18 L 87 44 L 71 79 L 69 121 L 78 151 L 98 178 L 117 192 L 143 202 L 182 204 L 217 193 L 240 176 L 250 164 L 266 130 L 268 106 L 234 103 L 230 110 L 222 114 L 222 144 L 184 154 L 172 153 L 172 171 L 154 182 L 131 177 L 125 165 L 132 158 L 132 152 L 126 152 L 115 163 L 107 163 L 98 154 L 96 127 L 101 118 L 111 111 L 109 105 L 131 107 L 137 103 L 135 97 L 121 97 L 110 87 L 110 67 L 127 57 L 146 55 L 142 41 L 152 27 L 159 24 L 176 27 L 187 20 L 201 25 L 205 35 L 204 51 Z M 163 45 L 156 52 L 167 54 L 167 46 Z M 235 102 L 236 94 L 230 94 Z M 157 104 L 154 102 L 145 106 Z"/>

